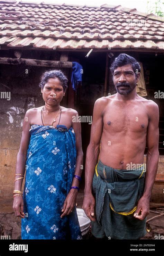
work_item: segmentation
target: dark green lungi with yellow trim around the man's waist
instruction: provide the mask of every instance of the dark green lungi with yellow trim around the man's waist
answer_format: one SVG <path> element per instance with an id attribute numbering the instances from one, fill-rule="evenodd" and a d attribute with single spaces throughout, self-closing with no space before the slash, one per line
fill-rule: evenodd
<path id="1" fill-rule="evenodd" d="M 144 192 L 144 164 L 135 170 L 117 170 L 100 160 L 93 177 L 96 221 L 91 230 L 96 238 L 139 239 L 146 234 L 146 218 L 135 218 L 137 202 Z"/>

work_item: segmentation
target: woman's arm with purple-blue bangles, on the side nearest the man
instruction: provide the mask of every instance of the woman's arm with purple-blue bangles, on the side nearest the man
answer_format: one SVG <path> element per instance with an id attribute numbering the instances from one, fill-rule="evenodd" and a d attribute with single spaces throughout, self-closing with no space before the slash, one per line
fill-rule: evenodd
<path id="1" fill-rule="evenodd" d="M 74 109 L 72 109 L 72 116 L 78 115 L 78 112 Z M 81 177 L 82 170 L 83 170 L 83 150 L 82 150 L 82 141 L 81 141 L 81 123 L 80 122 L 72 122 L 72 128 L 75 133 L 76 137 L 76 168 L 75 168 L 75 175 L 78 175 Z M 75 177 L 73 178 L 72 181 L 72 186 L 71 187 L 79 187 L 79 180 L 76 179 Z M 69 215 L 73 208 L 75 207 L 76 204 L 76 197 L 78 195 L 78 190 L 77 189 L 71 189 L 69 194 L 67 195 L 64 205 L 63 205 L 63 214 L 61 217 L 65 215 Z"/>

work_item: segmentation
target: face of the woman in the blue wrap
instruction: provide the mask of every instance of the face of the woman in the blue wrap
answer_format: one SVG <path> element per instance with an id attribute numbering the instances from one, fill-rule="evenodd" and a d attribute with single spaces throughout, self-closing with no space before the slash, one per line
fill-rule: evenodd
<path id="1" fill-rule="evenodd" d="M 49 78 L 41 92 L 43 93 L 44 101 L 51 106 L 58 105 L 65 94 L 58 78 Z"/>

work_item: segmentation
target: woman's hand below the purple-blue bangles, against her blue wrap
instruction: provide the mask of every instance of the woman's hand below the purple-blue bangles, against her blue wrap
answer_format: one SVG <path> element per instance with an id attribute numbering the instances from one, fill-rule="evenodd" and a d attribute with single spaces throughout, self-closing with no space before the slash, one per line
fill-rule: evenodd
<path id="1" fill-rule="evenodd" d="M 61 218 L 64 217 L 65 215 L 69 215 L 73 211 L 76 205 L 77 195 L 78 195 L 77 189 L 70 190 L 70 192 L 68 193 L 64 201 Z"/>

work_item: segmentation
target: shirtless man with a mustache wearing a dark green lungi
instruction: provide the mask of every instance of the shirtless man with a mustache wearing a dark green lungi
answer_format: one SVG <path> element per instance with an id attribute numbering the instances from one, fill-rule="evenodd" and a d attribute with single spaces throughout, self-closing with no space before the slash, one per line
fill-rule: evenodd
<path id="1" fill-rule="evenodd" d="M 96 238 L 139 239 L 146 234 L 158 166 L 159 110 L 136 93 L 140 66 L 135 58 L 121 53 L 111 72 L 117 93 L 95 101 L 83 209 Z"/>

